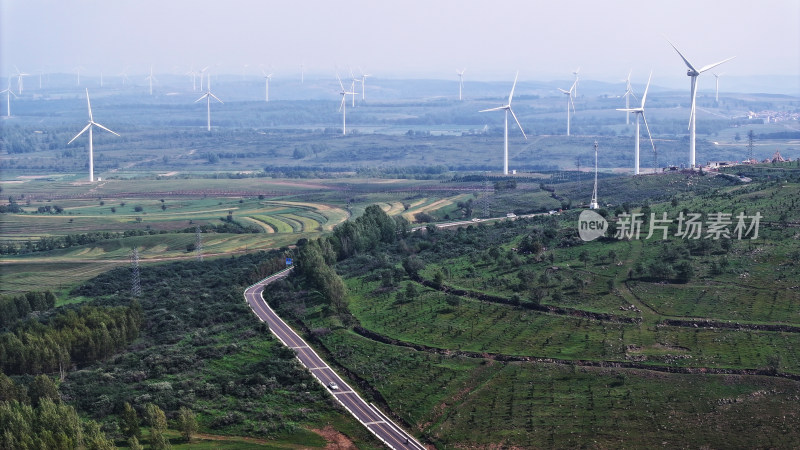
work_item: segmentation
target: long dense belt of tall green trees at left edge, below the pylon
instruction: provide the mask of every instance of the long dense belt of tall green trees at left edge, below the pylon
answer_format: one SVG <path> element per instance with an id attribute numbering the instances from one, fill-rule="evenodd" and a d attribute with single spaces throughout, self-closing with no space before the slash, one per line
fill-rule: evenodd
<path id="1" fill-rule="evenodd" d="M 136 339 L 141 307 L 83 306 L 34 320 L 0 334 L 0 370 L 7 374 L 39 374 L 67 370 L 103 359 Z"/>

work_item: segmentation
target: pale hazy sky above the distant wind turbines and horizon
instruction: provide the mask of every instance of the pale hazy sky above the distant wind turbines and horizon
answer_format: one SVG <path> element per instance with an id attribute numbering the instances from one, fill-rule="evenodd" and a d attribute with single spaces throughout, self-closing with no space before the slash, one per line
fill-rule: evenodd
<path id="1" fill-rule="evenodd" d="M 338 65 L 375 77 L 522 80 L 581 77 L 680 81 L 669 37 L 700 67 L 731 76 L 800 79 L 800 0 L 260 1 L 0 0 L 2 76 L 38 70 L 87 75 L 332 74 Z M 688 81 L 686 81 L 688 85 Z"/>

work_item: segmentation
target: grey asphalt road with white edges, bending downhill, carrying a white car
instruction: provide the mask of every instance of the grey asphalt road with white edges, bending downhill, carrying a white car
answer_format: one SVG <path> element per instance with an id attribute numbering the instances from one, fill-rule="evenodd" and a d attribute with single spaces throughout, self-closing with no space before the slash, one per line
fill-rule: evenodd
<path id="1" fill-rule="evenodd" d="M 425 447 L 417 442 L 413 436 L 392 422 L 386 415 L 378 410 L 374 405 L 364 401 L 345 381 L 328 366 L 317 353 L 286 324 L 272 308 L 267 305 L 261 292 L 273 281 L 289 275 L 292 268 L 275 273 L 258 283 L 250 286 L 244 291 L 244 298 L 250 305 L 253 312 L 269 325 L 270 331 L 283 344 L 295 351 L 297 359 L 311 372 L 328 392 L 333 395 L 350 414 L 361 422 L 369 431 L 378 437 L 384 444 L 392 449 L 417 449 L 424 450 Z M 331 388 L 331 383 L 335 383 L 336 389 Z"/>

